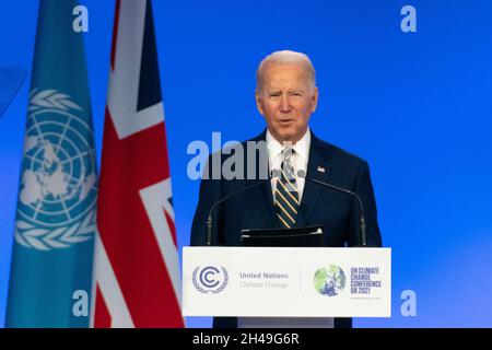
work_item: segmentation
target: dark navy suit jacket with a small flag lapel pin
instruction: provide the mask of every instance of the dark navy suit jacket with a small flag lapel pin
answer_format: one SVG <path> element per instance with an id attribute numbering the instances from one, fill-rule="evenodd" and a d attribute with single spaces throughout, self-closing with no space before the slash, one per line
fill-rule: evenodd
<path id="1" fill-rule="evenodd" d="M 265 139 L 266 130 L 251 141 L 265 141 Z M 243 143 L 243 147 L 244 150 L 247 149 L 246 142 Z M 247 162 L 246 152 L 244 153 L 244 178 L 246 178 Z M 220 163 L 223 164 L 231 155 L 222 154 L 219 156 Z M 211 164 L 210 160 L 209 158 L 209 164 Z M 323 168 L 325 172 L 319 171 Z M 257 156 L 257 175 L 258 171 L 259 160 Z M 367 244 L 370 246 L 382 246 L 373 185 L 368 165 L 364 160 L 321 141 L 312 132 L 306 176 L 356 192 L 364 205 Z M 191 245 L 206 245 L 206 222 L 210 208 L 214 202 L 259 180 L 258 177 L 257 179 L 203 178 L 191 229 Z M 305 182 L 296 226 L 323 224 L 325 246 L 343 247 L 359 245 L 359 206 L 351 196 L 327 189 L 308 180 Z M 244 229 L 280 228 L 273 207 L 270 182 L 263 182 L 263 184 L 221 203 L 215 210 L 213 222 L 212 243 L 225 246 L 241 245 L 241 231 Z M 237 319 L 234 317 L 214 318 L 214 327 L 236 327 L 236 325 Z M 351 319 L 336 318 L 335 326 L 350 327 Z"/>

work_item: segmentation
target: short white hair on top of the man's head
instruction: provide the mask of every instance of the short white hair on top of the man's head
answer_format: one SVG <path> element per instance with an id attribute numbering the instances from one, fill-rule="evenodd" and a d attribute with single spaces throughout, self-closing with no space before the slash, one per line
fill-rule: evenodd
<path id="1" fill-rule="evenodd" d="M 309 57 L 303 52 L 291 50 L 274 51 L 267 57 L 258 66 L 256 71 L 256 91 L 261 91 L 263 84 L 263 70 L 268 65 L 298 65 L 307 71 L 308 83 L 314 89 L 316 86 L 316 72 L 311 62 Z"/>

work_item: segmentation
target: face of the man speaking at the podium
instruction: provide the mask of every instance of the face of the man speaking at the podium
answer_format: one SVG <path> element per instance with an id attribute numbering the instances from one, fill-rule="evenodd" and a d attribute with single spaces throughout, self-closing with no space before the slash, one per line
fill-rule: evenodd
<path id="1" fill-rule="evenodd" d="M 270 63 L 262 82 L 256 105 L 271 135 L 279 142 L 298 141 L 318 102 L 318 89 L 309 84 L 308 72 L 298 65 Z"/>

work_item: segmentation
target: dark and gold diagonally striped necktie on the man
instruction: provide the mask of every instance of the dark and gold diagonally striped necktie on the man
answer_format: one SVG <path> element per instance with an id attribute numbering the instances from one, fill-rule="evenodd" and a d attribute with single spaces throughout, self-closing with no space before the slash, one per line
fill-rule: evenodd
<path id="1" fill-rule="evenodd" d="M 282 152 L 283 162 L 280 171 L 280 180 L 276 187 L 276 208 L 282 228 L 291 229 L 295 226 L 295 218 L 300 206 L 296 176 L 291 163 L 292 148 Z"/>

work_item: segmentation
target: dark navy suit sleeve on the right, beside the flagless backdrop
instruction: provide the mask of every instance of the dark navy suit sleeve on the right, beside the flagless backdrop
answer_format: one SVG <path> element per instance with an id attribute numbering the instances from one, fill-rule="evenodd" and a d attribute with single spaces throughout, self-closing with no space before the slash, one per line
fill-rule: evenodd
<path id="1" fill-rule="evenodd" d="M 383 242 L 380 237 L 379 225 L 377 223 L 376 199 L 374 196 L 374 188 L 371 180 L 368 164 L 365 161 L 359 168 L 354 191 L 361 197 L 362 203 L 364 206 L 367 245 L 373 247 L 380 247 L 383 245 Z M 360 245 L 360 209 L 356 200 L 354 199 L 352 202 L 352 212 L 349 225 L 349 246 Z"/>

